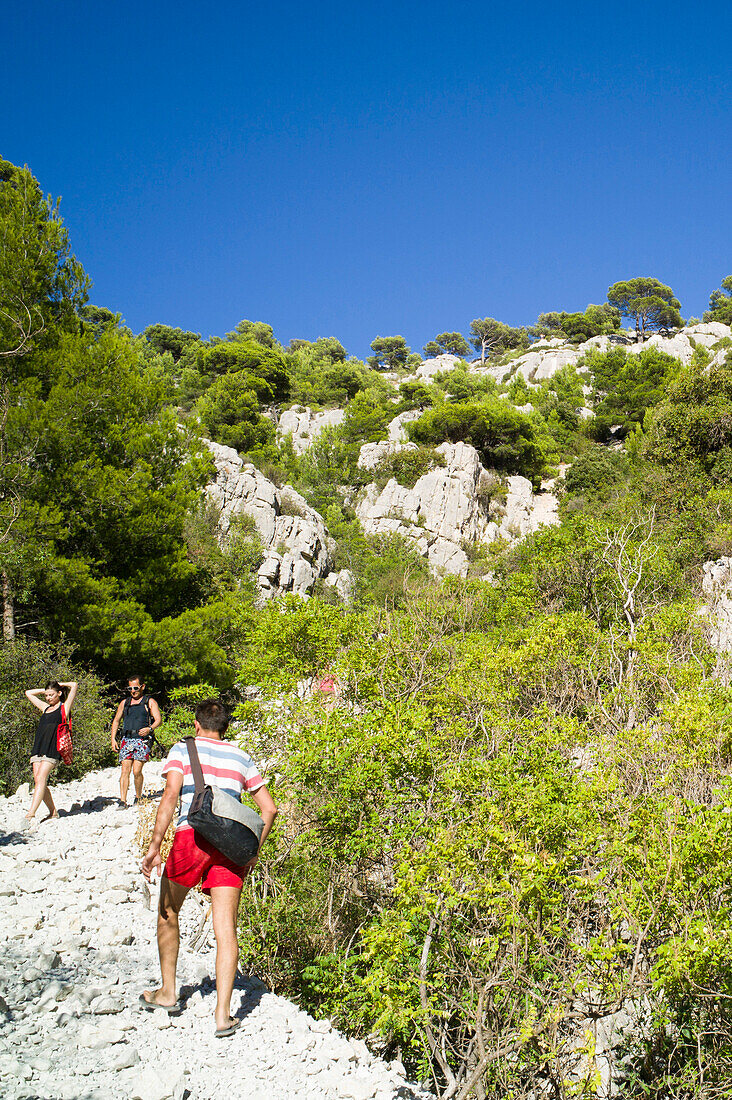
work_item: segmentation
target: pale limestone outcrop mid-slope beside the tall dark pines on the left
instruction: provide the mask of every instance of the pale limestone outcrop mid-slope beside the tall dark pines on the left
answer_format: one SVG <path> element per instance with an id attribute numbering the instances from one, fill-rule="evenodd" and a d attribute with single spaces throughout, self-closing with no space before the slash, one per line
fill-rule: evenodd
<path id="1" fill-rule="evenodd" d="M 208 447 L 216 481 L 207 492 L 219 507 L 221 538 L 227 538 L 232 517 L 244 515 L 254 520 L 262 539 L 264 560 L 256 575 L 261 598 L 285 592 L 309 595 L 330 569 L 323 516 L 289 485 L 277 488 L 233 448 L 212 442 Z"/>

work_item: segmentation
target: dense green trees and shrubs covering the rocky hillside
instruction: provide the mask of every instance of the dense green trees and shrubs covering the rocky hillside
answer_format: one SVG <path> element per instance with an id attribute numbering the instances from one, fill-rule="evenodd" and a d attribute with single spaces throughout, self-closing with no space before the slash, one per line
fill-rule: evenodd
<path id="1" fill-rule="evenodd" d="M 7 162 L 0 242 L 2 790 L 26 686 L 79 680 L 77 771 L 109 761 L 130 669 L 167 741 L 225 693 L 286 811 L 248 883 L 245 966 L 444 1097 L 596 1096 L 610 1022 L 618 1096 L 726 1094 L 732 697 L 697 607 L 701 565 L 732 552 L 729 341 L 687 366 L 600 341 L 548 381 L 516 370 L 532 338 L 676 327 L 647 277 L 441 332 L 426 353 L 457 362 L 425 377 L 397 336 L 365 363 L 261 321 L 135 336 L 88 304 L 57 206 Z M 730 278 L 706 319 L 729 323 Z M 275 420 L 305 405 L 343 418 L 297 454 Z M 417 448 L 367 475 L 361 446 L 407 411 Z M 258 606 L 260 536 L 241 518 L 220 539 L 206 438 L 323 514 L 350 606 Z M 356 518 L 367 479 L 413 485 L 446 440 L 535 485 L 570 463 L 561 525 L 496 544 L 485 580 L 430 578 Z M 302 698 L 323 669 L 336 707 Z"/>

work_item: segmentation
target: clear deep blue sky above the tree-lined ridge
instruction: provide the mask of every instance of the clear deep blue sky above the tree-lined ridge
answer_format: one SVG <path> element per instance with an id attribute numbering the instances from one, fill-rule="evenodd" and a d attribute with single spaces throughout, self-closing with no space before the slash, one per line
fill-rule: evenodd
<path id="1" fill-rule="evenodd" d="M 135 331 L 531 323 L 732 274 L 732 4 L 25 0 L 0 154 Z"/>

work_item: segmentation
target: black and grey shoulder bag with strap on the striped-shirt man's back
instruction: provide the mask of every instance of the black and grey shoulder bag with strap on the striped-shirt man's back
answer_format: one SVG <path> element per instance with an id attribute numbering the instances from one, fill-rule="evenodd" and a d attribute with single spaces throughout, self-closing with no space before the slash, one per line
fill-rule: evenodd
<path id="1" fill-rule="evenodd" d="M 237 867 L 243 867 L 260 850 L 264 822 L 249 806 L 242 806 L 238 799 L 205 782 L 196 739 L 186 737 L 185 740 L 196 784 L 196 793 L 188 811 L 188 824 L 222 856 Z"/>

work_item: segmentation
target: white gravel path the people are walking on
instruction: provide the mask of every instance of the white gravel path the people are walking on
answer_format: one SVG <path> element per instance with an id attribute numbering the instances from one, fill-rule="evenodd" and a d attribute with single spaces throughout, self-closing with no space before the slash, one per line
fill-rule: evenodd
<path id="1" fill-rule="evenodd" d="M 145 768 L 160 790 L 160 765 Z M 136 812 L 114 769 L 54 788 L 58 820 L 19 832 L 28 789 L 0 798 L 0 1096 L 3 1100 L 426 1100 L 400 1063 L 241 977 L 232 1038 L 214 1037 L 214 943 L 182 917 L 181 1016 L 143 1012 L 159 979 L 155 897 L 139 871 Z M 210 922 L 209 922 L 210 925 Z M 210 941 L 210 942 L 209 942 Z"/>

